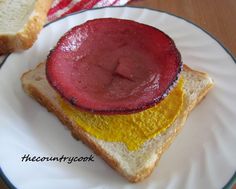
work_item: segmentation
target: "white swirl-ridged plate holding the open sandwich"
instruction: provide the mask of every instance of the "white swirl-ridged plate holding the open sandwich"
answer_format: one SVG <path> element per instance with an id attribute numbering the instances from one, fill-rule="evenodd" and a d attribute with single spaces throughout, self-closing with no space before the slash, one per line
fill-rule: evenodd
<path id="1" fill-rule="evenodd" d="M 71 27 L 101 17 L 131 19 L 157 27 L 176 42 L 183 62 L 209 73 L 214 89 L 191 113 L 173 145 L 144 182 L 128 183 L 55 116 L 28 97 L 20 76 L 45 60 Z M 95 44 L 96 45 L 96 44 Z M 99 48 L 99 47 L 98 47 Z M 0 70 L 0 165 L 17 188 L 221 188 L 236 170 L 236 65 L 219 43 L 193 24 L 163 12 L 103 8 L 46 26 L 35 45 L 11 54 Z M 95 156 L 94 162 L 22 162 L 30 156 Z"/>

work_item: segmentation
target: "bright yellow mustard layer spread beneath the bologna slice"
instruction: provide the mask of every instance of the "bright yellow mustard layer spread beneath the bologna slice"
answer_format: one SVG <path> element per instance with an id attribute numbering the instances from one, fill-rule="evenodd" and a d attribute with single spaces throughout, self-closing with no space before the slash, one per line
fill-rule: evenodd
<path id="1" fill-rule="evenodd" d="M 69 119 L 97 139 L 122 142 L 128 150 L 138 150 L 146 141 L 165 131 L 183 106 L 183 79 L 160 103 L 152 108 L 128 115 L 97 115 L 76 109 L 60 98 Z"/>

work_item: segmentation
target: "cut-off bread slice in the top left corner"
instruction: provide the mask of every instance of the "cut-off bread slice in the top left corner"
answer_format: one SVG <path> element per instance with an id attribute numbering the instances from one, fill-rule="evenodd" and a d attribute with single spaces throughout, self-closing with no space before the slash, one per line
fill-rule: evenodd
<path id="1" fill-rule="evenodd" d="M 0 55 L 30 48 L 52 0 L 0 0 Z"/>

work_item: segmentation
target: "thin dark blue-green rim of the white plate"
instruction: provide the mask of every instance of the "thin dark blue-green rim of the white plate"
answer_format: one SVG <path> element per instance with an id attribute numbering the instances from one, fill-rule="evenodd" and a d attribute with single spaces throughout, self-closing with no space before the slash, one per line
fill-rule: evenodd
<path id="1" fill-rule="evenodd" d="M 181 16 L 178 16 L 178 15 L 175 15 L 173 13 L 170 13 L 170 12 L 166 12 L 166 11 L 163 11 L 163 10 L 160 10 L 160 9 L 154 9 L 154 8 L 148 8 L 148 7 L 142 7 L 142 6 L 130 6 L 130 5 L 123 5 L 123 6 L 109 6 L 109 7 L 96 7 L 96 8 L 92 8 L 92 9 L 87 9 L 87 10 L 82 10 L 82 11 L 76 11 L 76 12 L 73 12 L 71 14 L 68 14 L 64 17 L 61 17 L 61 18 L 58 18 L 52 22 L 49 22 L 47 24 L 45 24 L 43 26 L 43 29 L 46 28 L 47 26 L 55 23 L 55 22 L 58 22 L 58 21 L 61 21 L 67 17 L 70 17 L 70 16 L 73 16 L 73 15 L 78 15 L 78 14 L 81 14 L 81 13 L 84 13 L 84 12 L 89 12 L 89 11 L 96 11 L 96 10 L 100 10 L 100 9 L 112 9 L 112 8 L 131 8 L 131 9 L 146 9 L 148 11 L 154 11 L 154 12 L 159 12 L 159 13 L 165 13 L 167 15 L 170 15 L 170 16 L 174 16 L 176 18 L 179 18 L 193 26 L 195 26 L 197 29 L 200 29 L 203 33 L 207 34 L 210 38 L 212 38 L 213 40 L 215 40 L 218 45 L 220 45 L 224 50 L 225 52 L 232 58 L 233 62 L 235 63 L 236 65 L 236 57 L 234 57 L 233 53 L 228 49 L 226 48 L 222 42 L 220 42 L 213 34 L 211 34 L 210 32 L 208 32 L 207 30 L 203 29 L 202 27 L 200 27 L 199 25 L 195 24 L 194 22 L 186 19 L 186 18 L 183 18 Z M 3 61 L 0 63 L 0 73 L 1 73 L 1 68 L 3 67 L 3 65 L 5 64 L 5 62 L 7 61 L 7 59 L 14 53 L 9 53 L 6 55 L 6 57 L 3 59 Z M 4 174 L 2 168 L 1 168 L 1 165 L 0 165 L 0 178 L 2 179 L 2 181 L 6 184 L 6 186 L 9 188 L 9 189 L 17 189 L 13 184 L 12 182 L 8 179 L 8 177 L 6 176 L 6 174 Z M 228 189 L 233 183 L 234 181 L 236 180 L 236 170 L 234 172 L 234 174 L 232 175 L 232 177 L 229 179 L 229 181 L 222 187 L 223 189 Z"/>

